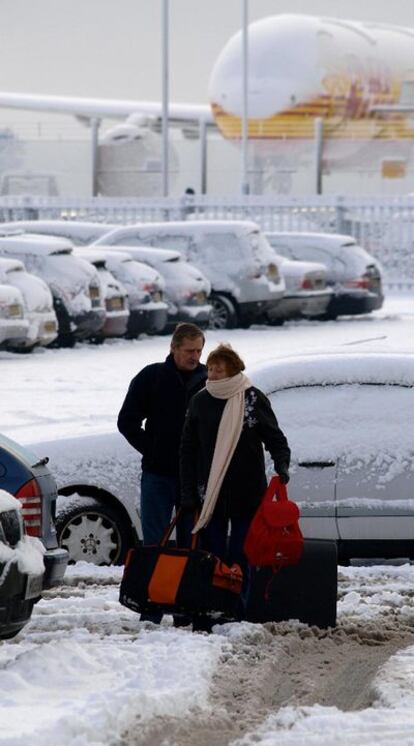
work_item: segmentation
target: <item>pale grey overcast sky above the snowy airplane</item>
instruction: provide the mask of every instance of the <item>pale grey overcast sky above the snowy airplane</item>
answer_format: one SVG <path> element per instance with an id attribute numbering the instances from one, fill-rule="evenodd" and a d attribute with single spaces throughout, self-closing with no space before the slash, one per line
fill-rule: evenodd
<path id="1" fill-rule="evenodd" d="M 241 0 L 170 0 L 170 86 L 207 100 L 212 65 L 241 27 Z M 0 0 L 0 89 L 159 99 L 162 0 Z M 294 12 L 414 27 L 412 0 L 250 0 L 251 20 Z M 299 50 L 298 50 L 299 51 Z"/>

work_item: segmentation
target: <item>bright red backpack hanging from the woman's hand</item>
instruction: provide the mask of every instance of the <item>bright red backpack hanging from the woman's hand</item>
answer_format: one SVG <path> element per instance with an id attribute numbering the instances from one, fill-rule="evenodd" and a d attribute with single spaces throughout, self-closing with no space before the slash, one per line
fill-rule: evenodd
<path id="1" fill-rule="evenodd" d="M 279 477 L 272 477 L 244 542 L 250 565 L 279 570 L 297 565 L 303 552 L 299 508 L 288 499 Z"/>

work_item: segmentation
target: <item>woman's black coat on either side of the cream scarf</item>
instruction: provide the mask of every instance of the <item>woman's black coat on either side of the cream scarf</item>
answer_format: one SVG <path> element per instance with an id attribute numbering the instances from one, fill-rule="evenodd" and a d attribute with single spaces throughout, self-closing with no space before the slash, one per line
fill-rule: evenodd
<path id="1" fill-rule="evenodd" d="M 207 487 L 217 431 L 226 400 L 207 389 L 190 402 L 180 450 L 181 499 L 190 504 Z M 270 401 L 251 386 L 245 392 L 243 429 L 215 507 L 225 518 L 252 518 L 267 486 L 263 444 L 275 469 L 289 467 L 290 449 Z"/>

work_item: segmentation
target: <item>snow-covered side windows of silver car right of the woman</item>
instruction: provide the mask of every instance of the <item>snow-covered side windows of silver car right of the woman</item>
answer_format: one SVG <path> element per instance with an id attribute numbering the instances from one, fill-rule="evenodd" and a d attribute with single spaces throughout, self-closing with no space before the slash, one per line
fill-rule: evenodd
<path id="1" fill-rule="evenodd" d="M 270 399 L 295 461 L 385 459 L 392 471 L 414 468 L 413 397 L 410 386 L 345 384 L 295 387 Z"/>

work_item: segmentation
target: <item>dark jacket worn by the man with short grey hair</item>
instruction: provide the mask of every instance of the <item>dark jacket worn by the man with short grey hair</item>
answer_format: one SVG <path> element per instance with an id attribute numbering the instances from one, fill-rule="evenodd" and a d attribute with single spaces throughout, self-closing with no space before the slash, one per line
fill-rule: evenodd
<path id="1" fill-rule="evenodd" d="M 118 415 L 118 430 L 142 454 L 144 471 L 178 476 L 186 409 L 206 378 L 201 363 L 194 372 L 181 374 L 170 354 L 164 363 L 147 365 L 132 379 Z"/>

